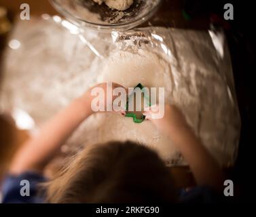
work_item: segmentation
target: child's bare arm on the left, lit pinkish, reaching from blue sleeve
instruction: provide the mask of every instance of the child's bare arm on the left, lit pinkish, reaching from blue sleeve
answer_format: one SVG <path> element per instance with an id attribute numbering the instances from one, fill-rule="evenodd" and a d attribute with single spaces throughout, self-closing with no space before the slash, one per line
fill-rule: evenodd
<path id="1" fill-rule="evenodd" d="M 103 83 L 98 87 L 106 90 L 107 86 Z M 14 156 L 9 172 L 21 174 L 26 170 L 42 171 L 80 123 L 93 113 L 91 101 L 92 96 L 89 90 L 45 123 L 37 136 L 22 145 Z"/>

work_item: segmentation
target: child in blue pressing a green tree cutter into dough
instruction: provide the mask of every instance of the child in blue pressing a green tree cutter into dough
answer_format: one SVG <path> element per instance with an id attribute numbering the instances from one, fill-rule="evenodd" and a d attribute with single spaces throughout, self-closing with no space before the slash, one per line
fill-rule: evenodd
<path id="1" fill-rule="evenodd" d="M 120 87 L 116 83 L 113 86 Z M 106 83 L 98 87 L 107 91 Z M 171 203 L 209 198 L 206 188 L 194 189 L 178 198 L 172 177 L 158 155 L 133 142 L 88 146 L 56 178 L 43 177 L 43 168 L 60 146 L 92 115 L 92 99 L 89 90 L 45 123 L 40 134 L 22 146 L 3 182 L 3 203 Z M 190 130 L 179 109 L 166 105 L 162 119 L 151 119 L 151 111 L 144 115 L 176 144 L 198 185 L 221 190 L 223 174 L 219 165 Z M 30 196 L 20 194 L 22 180 L 29 181 Z M 43 194 L 38 193 L 39 185 L 43 186 Z"/>

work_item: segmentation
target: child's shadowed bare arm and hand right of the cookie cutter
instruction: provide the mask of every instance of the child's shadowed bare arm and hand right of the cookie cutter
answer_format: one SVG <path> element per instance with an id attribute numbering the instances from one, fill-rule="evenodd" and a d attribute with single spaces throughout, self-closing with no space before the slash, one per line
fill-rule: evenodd
<path id="1" fill-rule="evenodd" d="M 145 112 L 145 115 L 175 143 L 189 164 L 197 184 L 221 189 L 224 180 L 221 167 L 192 132 L 177 107 L 166 105 L 162 119 L 152 119 L 150 111 Z"/>

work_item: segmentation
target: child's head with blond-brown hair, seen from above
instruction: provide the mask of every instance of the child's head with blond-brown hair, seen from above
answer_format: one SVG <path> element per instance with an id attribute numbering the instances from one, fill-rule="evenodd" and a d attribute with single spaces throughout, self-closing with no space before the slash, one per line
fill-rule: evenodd
<path id="1" fill-rule="evenodd" d="M 133 142 L 88 146 L 47 184 L 52 203 L 175 200 L 170 172 L 156 153 Z"/>

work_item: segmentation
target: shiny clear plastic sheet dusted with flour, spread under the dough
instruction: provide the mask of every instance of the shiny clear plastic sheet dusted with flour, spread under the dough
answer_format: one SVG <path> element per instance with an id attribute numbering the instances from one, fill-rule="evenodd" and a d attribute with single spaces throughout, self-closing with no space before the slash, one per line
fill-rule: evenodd
<path id="1" fill-rule="evenodd" d="M 57 16 L 43 17 L 16 23 L 5 51 L 2 111 L 26 113 L 26 117 L 33 119 L 33 124 L 28 125 L 35 129 L 97 83 L 113 52 L 124 50 L 136 54 L 139 50 L 149 50 L 170 66 L 168 102 L 182 109 L 189 125 L 221 165 L 234 164 L 240 117 L 223 33 L 162 27 L 98 33 L 79 29 Z M 121 123 L 120 118 L 116 117 L 113 129 L 107 130 L 114 131 Z M 109 115 L 89 117 L 65 144 L 65 152 L 113 139 L 100 136 L 107 121 Z M 159 139 L 156 132 L 152 132 L 152 138 L 133 135 L 133 140 L 145 144 Z M 125 140 L 128 136 L 115 138 Z M 170 145 L 172 150 L 164 150 L 164 155 L 163 150 L 153 148 L 168 165 L 185 163 L 173 145 Z"/>

